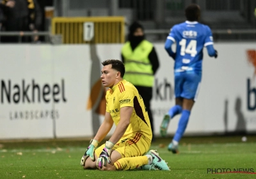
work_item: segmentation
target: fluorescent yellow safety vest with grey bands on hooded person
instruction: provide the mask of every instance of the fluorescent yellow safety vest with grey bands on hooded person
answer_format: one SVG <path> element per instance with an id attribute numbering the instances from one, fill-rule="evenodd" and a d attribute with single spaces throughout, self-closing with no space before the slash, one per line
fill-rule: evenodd
<path id="1" fill-rule="evenodd" d="M 124 56 L 125 75 L 124 79 L 135 86 L 152 87 L 154 85 L 154 74 L 148 55 L 152 51 L 153 44 L 143 40 L 132 51 L 130 42 L 122 47 Z"/>

